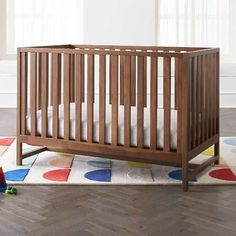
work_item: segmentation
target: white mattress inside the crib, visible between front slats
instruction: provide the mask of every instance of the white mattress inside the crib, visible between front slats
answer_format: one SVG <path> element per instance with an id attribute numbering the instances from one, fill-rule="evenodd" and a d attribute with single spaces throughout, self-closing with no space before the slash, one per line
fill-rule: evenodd
<path id="1" fill-rule="evenodd" d="M 119 106 L 118 143 L 124 144 L 124 106 Z M 163 148 L 163 109 L 157 110 L 157 147 Z M 64 137 L 64 111 L 59 106 L 59 138 Z M 48 135 L 52 136 L 53 127 L 52 107 L 48 107 Z M 37 134 L 41 134 L 41 110 L 37 111 Z M 94 104 L 94 142 L 99 142 L 99 106 Z M 150 109 L 144 108 L 144 146 L 150 146 Z M 31 121 L 27 116 L 27 131 L 30 133 Z M 82 140 L 87 140 L 87 104 L 82 104 Z M 70 139 L 75 139 L 75 103 L 70 104 Z M 106 106 L 106 143 L 111 143 L 111 105 Z M 131 145 L 137 145 L 137 109 L 131 107 Z M 171 149 L 177 148 L 177 112 L 171 110 Z"/>

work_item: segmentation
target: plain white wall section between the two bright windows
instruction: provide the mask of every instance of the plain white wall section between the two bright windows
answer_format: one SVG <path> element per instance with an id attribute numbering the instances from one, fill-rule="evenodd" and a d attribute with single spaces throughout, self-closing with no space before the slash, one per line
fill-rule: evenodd
<path id="1" fill-rule="evenodd" d="M 155 44 L 155 0 L 85 0 L 84 42 Z"/>

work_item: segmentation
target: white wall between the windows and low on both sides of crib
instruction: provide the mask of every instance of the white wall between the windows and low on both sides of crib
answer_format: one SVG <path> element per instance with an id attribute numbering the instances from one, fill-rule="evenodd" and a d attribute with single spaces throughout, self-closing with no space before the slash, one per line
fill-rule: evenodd
<path id="1" fill-rule="evenodd" d="M 155 0 L 85 0 L 83 8 L 84 43 L 155 44 Z M 221 64 L 220 74 L 221 106 L 236 107 L 236 65 Z M 16 62 L 0 61 L 0 107 L 16 106 L 16 83 Z"/>

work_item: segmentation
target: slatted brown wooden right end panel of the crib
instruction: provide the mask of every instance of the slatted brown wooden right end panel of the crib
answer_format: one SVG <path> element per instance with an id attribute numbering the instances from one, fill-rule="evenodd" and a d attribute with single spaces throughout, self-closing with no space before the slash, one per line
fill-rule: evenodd
<path id="1" fill-rule="evenodd" d="M 186 63 L 187 150 L 194 153 L 200 145 L 219 138 L 219 50 L 190 53 Z"/>

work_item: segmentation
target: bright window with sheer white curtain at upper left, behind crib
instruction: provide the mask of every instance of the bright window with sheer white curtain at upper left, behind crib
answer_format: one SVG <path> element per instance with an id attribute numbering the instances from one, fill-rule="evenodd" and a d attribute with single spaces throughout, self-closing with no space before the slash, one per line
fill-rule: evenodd
<path id="1" fill-rule="evenodd" d="M 81 0 L 7 0 L 7 54 L 19 46 L 80 43 Z"/>

